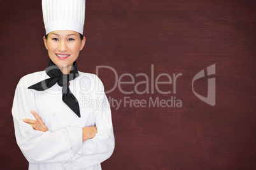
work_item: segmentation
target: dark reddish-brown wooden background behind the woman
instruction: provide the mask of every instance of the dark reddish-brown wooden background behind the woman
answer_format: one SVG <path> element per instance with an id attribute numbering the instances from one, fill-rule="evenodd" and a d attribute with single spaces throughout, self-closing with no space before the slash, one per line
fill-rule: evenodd
<path id="1" fill-rule="evenodd" d="M 124 95 L 118 88 L 107 94 L 117 100 L 175 96 L 182 107 L 112 107 L 116 147 L 103 169 L 256 169 L 255 1 L 88 0 L 86 5 L 80 71 L 96 73 L 97 66 L 108 65 L 118 77 L 135 77 L 150 75 L 153 65 L 155 77 L 182 73 L 176 94 Z M 11 105 L 18 80 L 48 65 L 41 1 L 0 0 L 0 22 L 0 169 L 27 169 Z M 194 95 L 192 79 L 214 63 L 217 96 L 211 107 Z M 105 89 L 114 86 L 110 70 L 99 77 Z M 145 79 L 135 79 L 140 81 Z M 160 85 L 162 91 L 172 88 Z M 134 85 L 122 89 L 132 91 Z M 205 96 L 207 79 L 195 89 Z"/>

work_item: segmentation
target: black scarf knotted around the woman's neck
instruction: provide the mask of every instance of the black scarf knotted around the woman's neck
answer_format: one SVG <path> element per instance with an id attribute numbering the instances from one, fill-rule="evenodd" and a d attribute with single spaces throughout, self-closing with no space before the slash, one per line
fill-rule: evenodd
<path id="1" fill-rule="evenodd" d="M 64 103 L 66 103 L 78 117 L 81 117 L 78 101 L 69 89 L 69 81 L 75 79 L 79 75 L 76 62 L 73 63 L 73 69 L 71 69 L 70 74 L 62 74 L 59 67 L 50 60 L 49 65 L 46 68 L 46 74 L 50 76 L 49 79 L 33 84 L 32 86 L 29 86 L 29 89 L 44 91 L 51 88 L 57 82 L 59 86 L 62 86 L 62 100 Z"/>

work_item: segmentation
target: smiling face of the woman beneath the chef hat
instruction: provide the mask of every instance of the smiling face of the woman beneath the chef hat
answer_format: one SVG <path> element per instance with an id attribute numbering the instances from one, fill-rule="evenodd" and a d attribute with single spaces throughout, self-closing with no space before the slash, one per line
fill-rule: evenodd
<path id="1" fill-rule="evenodd" d="M 85 37 L 80 39 L 80 34 L 73 30 L 56 30 L 43 37 L 48 55 L 63 74 L 69 74 L 73 62 L 78 58 L 80 51 L 85 46 Z"/>

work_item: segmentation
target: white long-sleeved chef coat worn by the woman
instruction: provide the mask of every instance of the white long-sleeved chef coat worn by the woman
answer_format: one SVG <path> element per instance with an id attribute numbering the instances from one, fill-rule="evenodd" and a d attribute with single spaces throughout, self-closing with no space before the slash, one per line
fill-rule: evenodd
<path id="1" fill-rule="evenodd" d="M 18 82 L 13 100 L 13 121 L 18 147 L 29 161 L 29 169 L 101 169 L 115 146 L 111 111 L 103 83 L 94 74 L 78 72 L 69 89 L 80 106 L 79 118 L 62 101 L 57 83 L 45 91 L 28 89 L 50 78 L 45 71 L 25 75 Z M 48 131 L 36 131 L 23 119 L 34 119 L 34 110 Z M 82 128 L 96 126 L 96 136 L 82 141 Z"/>

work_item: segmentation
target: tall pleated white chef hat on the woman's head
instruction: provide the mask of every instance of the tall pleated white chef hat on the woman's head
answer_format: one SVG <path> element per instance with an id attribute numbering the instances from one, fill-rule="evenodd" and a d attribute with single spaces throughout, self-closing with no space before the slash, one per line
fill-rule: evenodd
<path id="1" fill-rule="evenodd" d="M 42 0 L 46 35 L 54 30 L 74 30 L 83 34 L 85 0 Z"/>

